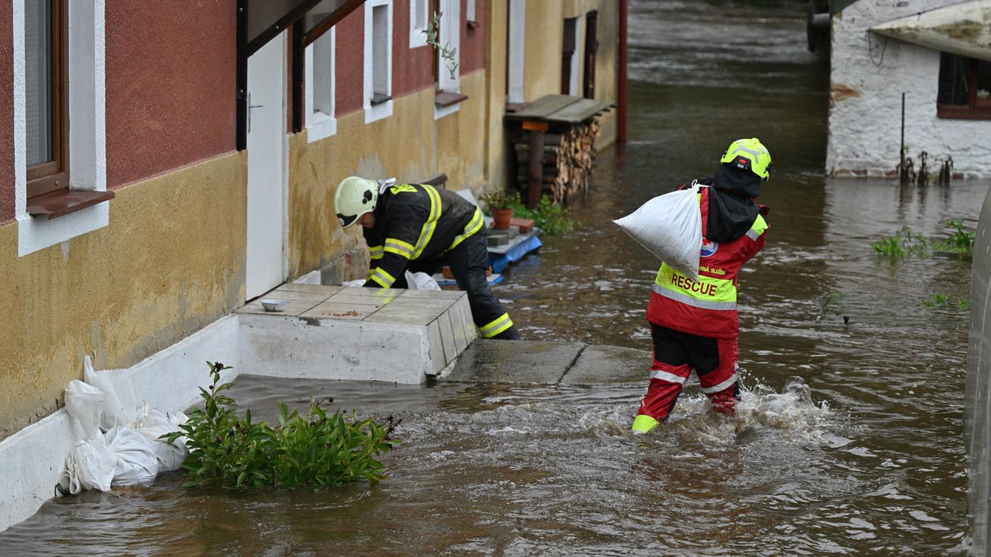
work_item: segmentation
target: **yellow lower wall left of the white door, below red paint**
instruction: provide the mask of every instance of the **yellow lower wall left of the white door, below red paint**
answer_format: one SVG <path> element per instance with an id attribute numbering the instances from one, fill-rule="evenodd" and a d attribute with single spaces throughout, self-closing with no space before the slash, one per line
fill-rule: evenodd
<path id="1" fill-rule="evenodd" d="M 115 191 L 110 224 L 24 257 L 0 227 L 0 438 L 244 303 L 247 158 L 230 154 Z M 195 249 L 191 249 L 195 248 Z"/>

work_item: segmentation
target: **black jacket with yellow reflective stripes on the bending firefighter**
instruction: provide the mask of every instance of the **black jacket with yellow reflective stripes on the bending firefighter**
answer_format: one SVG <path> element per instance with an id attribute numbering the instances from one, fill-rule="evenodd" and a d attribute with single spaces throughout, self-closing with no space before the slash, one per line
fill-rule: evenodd
<path id="1" fill-rule="evenodd" d="M 388 288 L 410 261 L 429 260 L 461 244 L 485 224 L 461 195 L 429 184 L 400 183 L 379 193 L 375 227 L 364 229 L 372 255 L 366 285 Z"/>

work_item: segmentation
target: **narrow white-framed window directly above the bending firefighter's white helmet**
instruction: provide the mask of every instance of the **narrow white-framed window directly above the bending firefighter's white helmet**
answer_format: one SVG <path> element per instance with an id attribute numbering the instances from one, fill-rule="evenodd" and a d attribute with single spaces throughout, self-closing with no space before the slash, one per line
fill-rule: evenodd
<path id="1" fill-rule="evenodd" d="M 365 2 L 365 123 L 392 115 L 392 3 Z"/>

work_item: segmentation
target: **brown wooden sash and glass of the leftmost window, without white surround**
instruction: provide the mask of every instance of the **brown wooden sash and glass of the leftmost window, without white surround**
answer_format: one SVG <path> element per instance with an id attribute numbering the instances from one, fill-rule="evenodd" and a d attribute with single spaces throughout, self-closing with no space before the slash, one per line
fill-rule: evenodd
<path id="1" fill-rule="evenodd" d="M 67 0 L 24 4 L 28 197 L 68 188 Z"/>

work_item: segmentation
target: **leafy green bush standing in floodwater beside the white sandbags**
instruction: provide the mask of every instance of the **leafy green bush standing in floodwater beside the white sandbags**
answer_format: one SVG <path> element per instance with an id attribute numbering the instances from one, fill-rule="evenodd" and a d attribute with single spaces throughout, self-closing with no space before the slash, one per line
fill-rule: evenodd
<path id="1" fill-rule="evenodd" d="M 220 372 L 230 367 L 207 364 L 211 384 L 209 390 L 200 389 L 204 407 L 190 412 L 181 431 L 163 435 L 168 442 L 185 437 L 189 457 L 182 465 L 188 477 L 183 487 L 291 489 L 385 478 L 376 457 L 398 444 L 389 435 L 399 420 L 389 416 L 380 425 L 359 421 L 354 412 L 327 415 L 322 400 L 311 398 L 305 414 L 279 402 L 275 427 L 253 423 L 250 409 L 238 416 L 237 403 L 222 393 L 234 386 L 220 384 Z"/>

